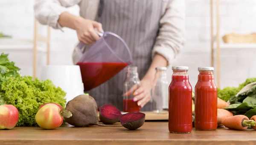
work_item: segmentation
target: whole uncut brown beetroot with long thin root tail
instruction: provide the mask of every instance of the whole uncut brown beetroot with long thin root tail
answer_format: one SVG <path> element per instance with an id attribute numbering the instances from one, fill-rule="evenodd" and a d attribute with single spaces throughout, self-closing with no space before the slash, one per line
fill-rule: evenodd
<path id="1" fill-rule="evenodd" d="M 90 125 L 99 126 L 118 126 L 99 124 L 98 121 L 98 107 L 93 97 L 89 95 L 79 95 L 67 103 L 66 110 L 72 113 L 69 118 L 65 120 L 70 125 L 76 127 L 84 127 Z M 119 125 L 121 126 L 121 125 Z"/>

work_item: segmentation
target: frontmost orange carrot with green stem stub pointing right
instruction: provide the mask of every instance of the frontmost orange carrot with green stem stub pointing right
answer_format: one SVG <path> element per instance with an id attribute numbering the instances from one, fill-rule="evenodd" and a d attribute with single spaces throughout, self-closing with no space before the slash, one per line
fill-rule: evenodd
<path id="1" fill-rule="evenodd" d="M 224 120 L 222 120 L 222 124 L 229 129 L 243 131 L 247 129 L 248 126 L 255 125 L 256 122 L 253 120 L 249 120 L 247 116 L 235 115 L 235 116 L 224 118 Z"/>

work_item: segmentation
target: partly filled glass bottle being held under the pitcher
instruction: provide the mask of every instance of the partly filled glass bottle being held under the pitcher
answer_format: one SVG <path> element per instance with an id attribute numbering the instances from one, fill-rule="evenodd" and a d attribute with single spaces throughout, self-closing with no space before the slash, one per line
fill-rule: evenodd
<path id="1" fill-rule="evenodd" d="M 123 112 L 140 112 L 140 106 L 138 106 L 137 101 L 133 100 L 134 91 L 139 86 L 140 79 L 137 73 L 137 67 L 128 66 L 123 91 Z"/>

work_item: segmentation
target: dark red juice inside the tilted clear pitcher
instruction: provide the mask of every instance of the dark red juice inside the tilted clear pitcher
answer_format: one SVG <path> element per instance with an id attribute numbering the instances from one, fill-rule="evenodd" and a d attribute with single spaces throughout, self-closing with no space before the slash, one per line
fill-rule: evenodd
<path id="1" fill-rule="evenodd" d="M 119 73 L 128 64 L 115 62 L 78 62 L 80 66 L 84 91 L 99 86 Z"/>

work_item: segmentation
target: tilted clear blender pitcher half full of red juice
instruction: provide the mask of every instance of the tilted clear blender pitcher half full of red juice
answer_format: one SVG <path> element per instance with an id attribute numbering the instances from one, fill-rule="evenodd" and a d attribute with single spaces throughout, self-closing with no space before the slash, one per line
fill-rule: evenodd
<path id="1" fill-rule="evenodd" d="M 125 41 L 115 33 L 99 33 L 101 38 L 81 52 L 81 42 L 76 47 L 84 91 L 108 81 L 132 63 L 131 52 Z"/>

